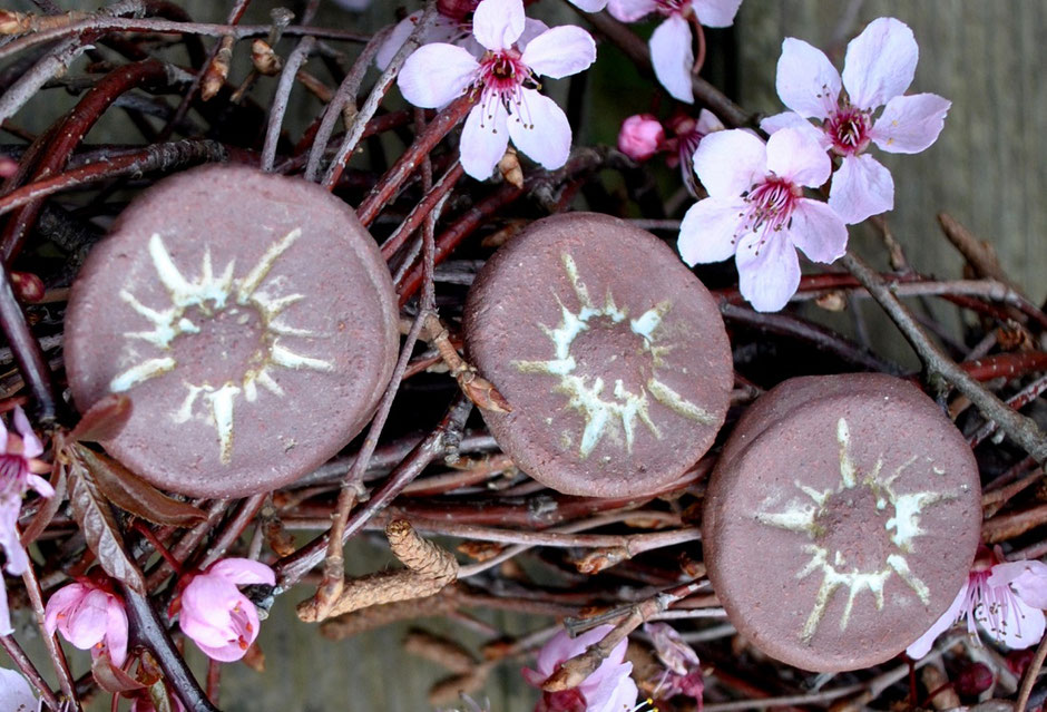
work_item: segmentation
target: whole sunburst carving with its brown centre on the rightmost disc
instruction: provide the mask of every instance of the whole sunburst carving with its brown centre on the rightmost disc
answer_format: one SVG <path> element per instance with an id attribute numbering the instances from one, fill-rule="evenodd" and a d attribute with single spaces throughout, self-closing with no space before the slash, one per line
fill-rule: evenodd
<path id="1" fill-rule="evenodd" d="M 782 511 L 756 514 L 761 524 L 796 531 L 809 539 L 803 550 L 811 558 L 796 573 L 798 579 L 816 573 L 822 575 L 814 606 L 800 633 L 804 643 L 814 636 L 829 603 L 841 588 L 848 589 L 847 604 L 840 616 L 841 631 L 847 628 L 854 599 L 862 591 L 869 591 L 878 611 L 883 608 L 883 588 L 891 576 L 901 578 L 927 605 L 930 592 L 909 568 L 907 557 L 913 553 L 917 539 L 926 534 L 920 526 L 924 509 L 952 498 L 936 491 L 903 495 L 896 491 L 898 478 L 917 461 L 917 456 L 887 477 L 882 475 L 882 455 L 870 470 L 860 469 L 851 457 L 851 433 L 843 418 L 836 422 L 836 441 L 840 447 L 840 481 L 835 487 L 819 491 L 796 480 L 796 488 L 806 499 L 793 499 Z M 938 468 L 933 471 L 942 474 Z M 882 530 L 875 530 L 877 527 Z M 863 539 L 862 548 L 873 554 L 858 554 L 854 546 L 858 538 Z"/>

